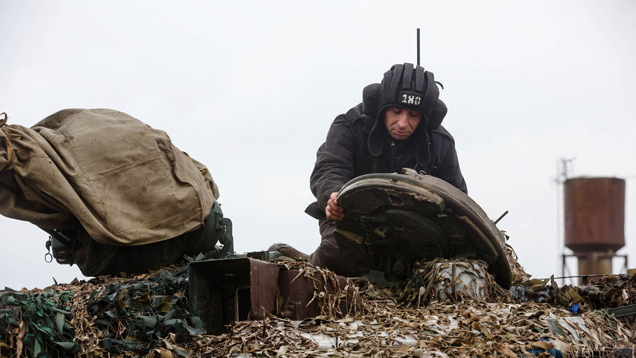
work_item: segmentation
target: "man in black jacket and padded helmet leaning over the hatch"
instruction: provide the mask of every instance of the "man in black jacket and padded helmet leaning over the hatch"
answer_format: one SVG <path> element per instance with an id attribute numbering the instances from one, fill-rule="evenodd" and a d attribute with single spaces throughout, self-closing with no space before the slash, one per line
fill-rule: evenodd
<path id="1" fill-rule="evenodd" d="M 340 254 L 333 235 L 335 221 L 345 217 L 336 202 L 338 191 L 355 177 L 409 167 L 468 192 L 453 137 L 441 126 L 447 109 L 438 96 L 431 72 L 410 63 L 394 65 L 380 84 L 365 87 L 361 104 L 335 118 L 327 140 L 318 148 L 310 179 L 316 202 L 306 213 L 319 220 L 322 236 L 318 249 L 307 258 L 311 264 L 344 276 L 357 274 Z M 284 244 L 270 250 L 306 257 Z"/>

